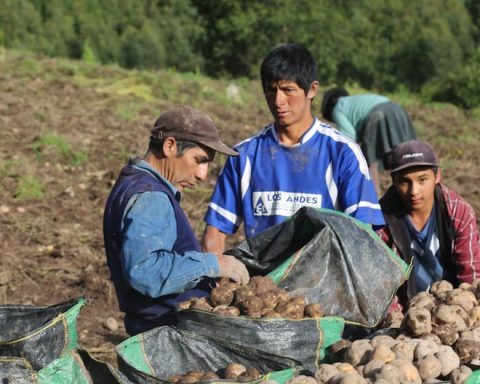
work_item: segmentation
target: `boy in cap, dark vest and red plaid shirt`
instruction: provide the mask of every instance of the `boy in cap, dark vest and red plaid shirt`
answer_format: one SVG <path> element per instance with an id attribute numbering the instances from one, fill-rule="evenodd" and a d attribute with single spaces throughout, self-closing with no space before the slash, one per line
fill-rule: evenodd
<path id="1" fill-rule="evenodd" d="M 380 237 L 413 270 L 406 300 L 437 280 L 457 286 L 480 277 L 480 236 L 473 208 L 440 184 L 439 162 L 432 146 L 410 140 L 387 155 L 393 185 L 380 199 L 387 226 Z"/>

